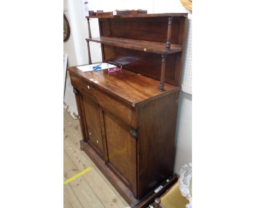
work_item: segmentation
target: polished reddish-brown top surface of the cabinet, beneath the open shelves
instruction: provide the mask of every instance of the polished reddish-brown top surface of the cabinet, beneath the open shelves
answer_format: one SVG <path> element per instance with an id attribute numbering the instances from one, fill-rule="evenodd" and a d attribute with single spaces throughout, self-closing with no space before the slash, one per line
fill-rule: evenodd
<path id="1" fill-rule="evenodd" d="M 108 75 L 108 70 L 83 72 L 76 66 L 69 67 L 68 70 L 71 74 L 79 76 L 84 81 L 106 91 L 132 107 L 153 97 L 172 93 L 179 89 L 174 85 L 166 84 L 166 91 L 161 92 L 159 91 L 159 81 L 128 70 L 122 70 L 116 75 Z M 90 81 L 90 79 L 94 79 L 97 83 Z"/>

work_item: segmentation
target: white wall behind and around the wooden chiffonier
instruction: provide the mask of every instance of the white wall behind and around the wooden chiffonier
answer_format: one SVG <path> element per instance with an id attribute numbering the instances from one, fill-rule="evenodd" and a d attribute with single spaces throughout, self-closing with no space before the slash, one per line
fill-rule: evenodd
<path id="1" fill-rule="evenodd" d="M 72 28 L 74 50 L 77 53 L 77 64 L 88 63 L 88 52 L 85 38 L 88 37 L 87 20 L 83 20 L 82 5 L 83 0 L 66 0 L 69 4 L 69 11 L 72 13 Z M 104 10 L 113 11 L 115 9 L 146 9 L 148 13 L 178 13 L 186 12 L 179 0 L 88 0 L 89 10 Z M 191 17 L 191 15 L 190 15 Z M 92 37 L 99 36 L 98 20 L 90 19 Z M 102 60 L 100 44 L 90 42 L 91 59 L 92 63 Z M 187 52 L 191 53 L 191 51 Z M 191 59 L 191 54 L 189 54 Z M 191 66 L 191 60 L 184 59 L 186 67 Z M 189 68 L 189 67 L 188 67 Z M 187 78 L 183 70 L 182 80 Z M 191 77 L 190 77 L 191 78 Z M 191 94 L 191 89 L 188 90 Z M 174 164 L 174 172 L 179 174 L 179 170 L 185 163 L 192 161 L 192 136 L 191 136 L 191 108 L 192 108 L 192 95 L 183 93 L 179 98 L 179 109 L 176 128 L 176 160 Z"/>

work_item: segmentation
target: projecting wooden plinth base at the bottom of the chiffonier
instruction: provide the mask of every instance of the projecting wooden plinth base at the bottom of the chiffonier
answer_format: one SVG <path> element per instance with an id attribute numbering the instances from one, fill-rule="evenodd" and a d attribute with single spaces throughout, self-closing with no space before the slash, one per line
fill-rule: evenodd
<path id="1" fill-rule="evenodd" d="M 171 176 L 167 181 L 161 183 L 162 188 L 158 192 L 151 192 L 146 197 L 141 200 L 136 199 L 132 192 L 127 188 L 124 183 L 118 179 L 118 177 L 106 166 L 104 161 L 96 152 L 91 148 L 91 146 L 84 142 L 80 141 L 81 149 L 91 158 L 91 160 L 96 164 L 96 166 L 101 170 L 101 172 L 106 176 L 110 183 L 117 189 L 121 196 L 130 204 L 131 207 L 147 207 L 148 204 L 159 197 L 162 193 L 166 191 L 170 186 L 172 186 L 177 181 L 177 175 Z"/>

